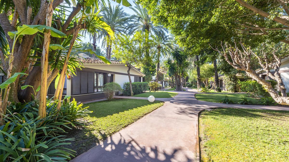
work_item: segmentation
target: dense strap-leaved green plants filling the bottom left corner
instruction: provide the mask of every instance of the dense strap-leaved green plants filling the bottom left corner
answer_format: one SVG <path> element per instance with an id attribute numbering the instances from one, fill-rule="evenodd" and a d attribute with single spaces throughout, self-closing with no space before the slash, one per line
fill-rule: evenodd
<path id="1" fill-rule="evenodd" d="M 8 106 L 5 123 L 0 127 L 0 157 L 3 161 L 67 161 L 75 151 L 65 148 L 71 144 L 66 139 L 66 129 L 83 125 L 79 120 L 88 116 L 82 103 L 65 97 L 60 110 L 58 101 L 47 101 L 47 115 L 38 116 L 38 101 L 11 103 Z M 62 135 L 60 135 L 62 134 Z"/>

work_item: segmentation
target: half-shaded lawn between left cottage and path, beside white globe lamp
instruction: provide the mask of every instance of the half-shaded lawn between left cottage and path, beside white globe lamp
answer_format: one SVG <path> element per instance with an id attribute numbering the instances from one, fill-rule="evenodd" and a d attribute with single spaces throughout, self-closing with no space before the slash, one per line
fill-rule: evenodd
<path id="1" fill-rule="evenodd" d="M 86 127 L 68 131 L 68 137 L 75 138 L 70 148 L 80 155 L 163 104 L 161 101 L 151 103 L 141 99 L 115 99 L 85 104 L 93 112 L 83 119 L 87 123 Z"/>

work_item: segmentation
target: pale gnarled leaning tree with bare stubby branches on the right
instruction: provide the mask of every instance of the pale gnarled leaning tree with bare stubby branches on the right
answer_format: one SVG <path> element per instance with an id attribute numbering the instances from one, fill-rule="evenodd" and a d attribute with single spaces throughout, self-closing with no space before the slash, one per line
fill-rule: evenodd
<path id="1" fill-rule="evenodd" d="M 261 52 L 262 56 L 259 56 L 251 50 L 251 47 L 246 48 L 242 43 L 234 42 L 234 46 L 232 46 L 228 43 L 225 43 L 224 45 L 221 42 L 221 47 L 222 50 L 219 50 L 218 48 L 212 48 L 223 55 L 225 60 L 235 69 L 245 71 L 249 77 L 262 84 L 262 86 L 268 91 L 268 93 L 277 103 L 281 105 L 289 105 L 289 97 L 286 95 L 286 88 L 279 73 L 281 59 L 278 58 L 275 54 L 276 50 L 273 50 L 273 63 L 269 63 L 266 56 L 267 54 L 264 51 Z M 256 71 L 251 68 L 251 56 L 256 56 L 260 66 L 263 67 L 268 76 L 277 81 L 278 85 L 280 86 L 281 96 L 277 91 L 275 91 L 270 82 L 267 82 L 265 79 L 261 78 L 259 74 L 257 74 Z M 275 69 L 275 71 L 271 72 L 269 67 L 272 67 Z"/>

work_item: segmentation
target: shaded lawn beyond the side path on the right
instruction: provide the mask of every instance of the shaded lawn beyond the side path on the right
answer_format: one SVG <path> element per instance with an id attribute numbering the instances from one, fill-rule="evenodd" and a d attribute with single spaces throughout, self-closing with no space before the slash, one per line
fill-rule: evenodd
<path id="1" fill-rule="evenodd" d="M 221 100 L 228 96 L 229 99 L 237 103 L 242 97 L 248 97 L 247 94 L 240 94 L 240 93 L 230 93 L 230 94 L 220 94 L 220 93 L 199 93 L 196 94 L 195 97 L 201 101 L 208 101 L 208 102 L 218 102 L 221 103 Z M 251 100 L 252 104 L 259 104 L 259 99 L 255 99 L 252 97 L 248 97 L 248 100 Z"/>

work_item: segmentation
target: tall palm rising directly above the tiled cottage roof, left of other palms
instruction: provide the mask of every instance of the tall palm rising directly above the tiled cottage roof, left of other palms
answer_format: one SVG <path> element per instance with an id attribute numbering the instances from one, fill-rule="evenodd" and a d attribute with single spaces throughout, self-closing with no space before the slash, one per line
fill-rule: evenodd
<path id="1" fill-rule="evenodd" d="M 103 16 L 101 19 L 111 27 L 115 37 L 121 33 L 126 33 L 125 26 L 130 22 L 130 17 L 123 10 L 123 7 L 120 7 L 120 5 L 113 7 L 110 4 L 108 4 L 108 7 L 102 5 L 99 15 Z M 99 41 L 103 38 L 102 47 L 106 47 L 106 58 L 111 59 L 112 37 L 104 30 L 98 30 L 95 37 Z"/>

